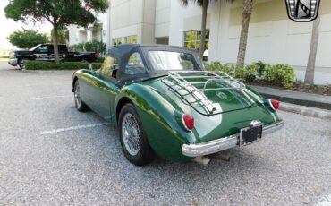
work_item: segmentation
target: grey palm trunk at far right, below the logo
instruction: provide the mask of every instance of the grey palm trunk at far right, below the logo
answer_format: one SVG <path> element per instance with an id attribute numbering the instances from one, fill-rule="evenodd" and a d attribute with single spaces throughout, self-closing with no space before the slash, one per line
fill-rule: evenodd
<path id="1" fill-rule="evenodd" d="M 318 18 L 312 24 L 311 40 L 310 40 L 310 56 L 308 57 L 306 75 L 304 78 L 304 82 L 308 84 L 314 83 L 315 63 L 316 63 L 316 56 L 318 54 L 320 16 L 321 13 L 318 15 Z"/>

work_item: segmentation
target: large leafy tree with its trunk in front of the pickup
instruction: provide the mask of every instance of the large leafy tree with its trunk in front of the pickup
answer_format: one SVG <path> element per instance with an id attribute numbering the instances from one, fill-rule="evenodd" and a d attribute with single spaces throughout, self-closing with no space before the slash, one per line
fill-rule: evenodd
<path id="1" fill-rule="evenodd" d="M 13 0 L 4 8 L 14 21 L 49 21 L 53 35 L 55 62 L 58 56 L 58 30 L 70 24 L 87 27 L 97 20 L 95 13 L 105 13 L 108 0 Z"/>

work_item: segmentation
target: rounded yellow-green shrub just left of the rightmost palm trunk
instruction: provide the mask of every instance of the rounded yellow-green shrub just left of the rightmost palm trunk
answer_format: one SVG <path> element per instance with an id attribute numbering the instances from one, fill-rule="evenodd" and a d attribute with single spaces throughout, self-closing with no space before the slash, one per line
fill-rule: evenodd
<path id="1" fill-rule="evenodd" d="M 265 80 L 278 86 L 291 88 L 295 79 L 294 69 L 290 65 L 267 65 Z"/>

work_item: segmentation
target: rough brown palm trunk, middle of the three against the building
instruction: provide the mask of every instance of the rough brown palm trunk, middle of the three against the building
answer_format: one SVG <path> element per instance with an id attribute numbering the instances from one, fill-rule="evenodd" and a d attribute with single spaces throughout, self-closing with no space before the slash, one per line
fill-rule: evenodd
<path id="1" fill-rule="evenodd" d="M 250 15 L 253 11 L 253 0 L 244 0 L 242 9 L 242 31 L 239 42 L 239 50 L 237 56 L 237 67 L 243 68 L 245 64 L 247 38 L 250 26 Z"/>

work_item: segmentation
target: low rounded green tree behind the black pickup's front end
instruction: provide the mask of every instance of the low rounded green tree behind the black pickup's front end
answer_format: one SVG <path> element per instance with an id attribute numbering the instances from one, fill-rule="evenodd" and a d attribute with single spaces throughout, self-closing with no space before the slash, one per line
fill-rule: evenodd
<path id="1" fill-rule="evenodd" d="M 46 34 L 40 34 L 35 30 L 19 30 L 14 31 L 8 37 L 8 40 L 13 46 L 29 49 L 38 44 L 47 43 L 48 37 Z"/>

